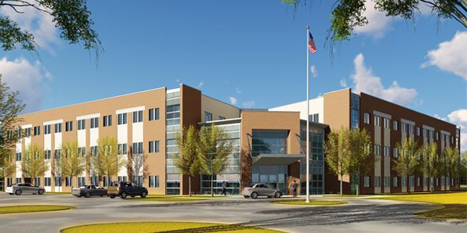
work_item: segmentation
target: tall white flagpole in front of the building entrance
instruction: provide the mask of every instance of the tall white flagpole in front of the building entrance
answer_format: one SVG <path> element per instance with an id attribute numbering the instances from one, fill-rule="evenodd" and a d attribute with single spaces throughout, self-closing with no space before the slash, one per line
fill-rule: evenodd
<path id="1" fill-rule="evenodd" d="M 310 202 L 310 26 L 306 25 L 306 203 Z"/>

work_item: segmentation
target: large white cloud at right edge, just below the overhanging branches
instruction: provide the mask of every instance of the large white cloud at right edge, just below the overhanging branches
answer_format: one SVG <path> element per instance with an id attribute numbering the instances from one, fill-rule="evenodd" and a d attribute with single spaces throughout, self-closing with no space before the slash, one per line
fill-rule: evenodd
<path id="1" fill-rule="evenodd" d="M 427 53 L 428 61 L 422 64 L 437 66 L 442 71 L 448 71 L 467 80 L 467 31 L 456 32 L 450 41 L 442 42 L 437 49 Z"/>

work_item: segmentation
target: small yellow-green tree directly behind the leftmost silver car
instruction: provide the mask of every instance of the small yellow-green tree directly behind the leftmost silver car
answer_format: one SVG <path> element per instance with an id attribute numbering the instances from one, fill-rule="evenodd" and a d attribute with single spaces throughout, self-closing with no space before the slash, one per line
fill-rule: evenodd
<path id="1" fill-rule="evenodd" d="M 23 160 L 21 160 L 21 170 L 23 176 L 31 178 L 31 183 L 35 184 L 35 178 L 40 177 L 49 169 L 49 164 L 44 160 L 44 151 L 36 144 L 30 144 L 26 148 Z"/>

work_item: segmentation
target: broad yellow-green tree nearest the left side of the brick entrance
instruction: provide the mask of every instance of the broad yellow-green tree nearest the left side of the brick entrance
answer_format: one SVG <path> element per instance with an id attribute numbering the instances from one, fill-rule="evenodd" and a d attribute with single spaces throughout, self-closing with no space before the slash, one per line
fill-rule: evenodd
<path id="1" fill-rule="evenodd" d="M 202 126 L 197 144 L 197 166 L 203 174 L 211 177 L 211 196 L 214 196 L 214 175 L 222 174 L 229 166 L 229 155 L 233 151 L 226 133 L 217 126 Z"/>

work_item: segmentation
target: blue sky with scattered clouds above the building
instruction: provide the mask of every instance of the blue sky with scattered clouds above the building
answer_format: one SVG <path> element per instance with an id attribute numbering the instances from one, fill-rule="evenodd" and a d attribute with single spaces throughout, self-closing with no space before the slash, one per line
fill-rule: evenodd
<path id="1" fill-rule="evenodd" d="M 370 24 L 331 57 L 330 4 L 294 13 L 279 0 L 90 1 L 105 49 L 98 66 L 92 53 L 60 40 L 50 18 L 0 9 L 36 32 L 42 47 L 39 56 L 0 51 L 0 73 L 23 92 L 26 112 L 178 83 L 238 107 L 274 107 L 306 97 L 310 24 L 318 47 L 312 97 L 348 86 L 467 125 L 465 28 L 425 10 L 405 21 L 367 7 Z"/>

